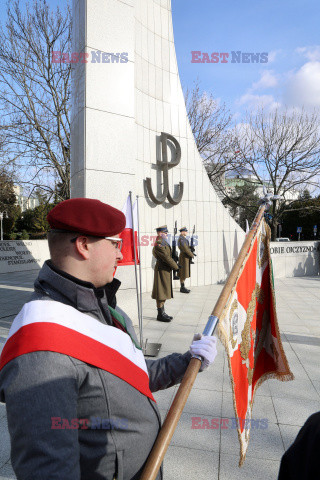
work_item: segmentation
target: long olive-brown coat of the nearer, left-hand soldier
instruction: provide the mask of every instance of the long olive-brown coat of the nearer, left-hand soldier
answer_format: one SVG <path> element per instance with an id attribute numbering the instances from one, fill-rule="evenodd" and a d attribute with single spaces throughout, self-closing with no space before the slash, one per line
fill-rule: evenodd
<path id="1" fill-rule="evenodd" d="M 173 298 L 171 272 L 178 270 L 179 267 L 171 256 L 171 247 L 163 238 L 159 238 L 152 253 L 157 262 L 154 268 L 151 297 L 158 301 Z"/>

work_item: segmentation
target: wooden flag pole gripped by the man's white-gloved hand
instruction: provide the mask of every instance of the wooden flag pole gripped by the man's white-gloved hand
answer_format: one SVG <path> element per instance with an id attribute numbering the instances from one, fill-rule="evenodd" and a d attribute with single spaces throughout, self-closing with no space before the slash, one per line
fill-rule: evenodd
<path id="1" fill-rule="evenodd" d="M 260 206 L 257 212 L 257 215 L 252 223 L 250 231 L 246 236 L 245 241 L 243 242 L 243 245 L 239 252 L 237 260 L 230 272 L 230 275 L 212 311 L 212 315 L 209 317 L 209 321 L 206 328 L 204 329 L 203 335 L 212 335 L 214 332 L 214 329 L 218 323 L 218 319 L 221 316 L 221 313 L 230 296 L 231 290 L 238 278 L 240 268 L 246 258 L 247 252 L 250 248 L 254 235 L 258 229 L 258 226 L 260 225 L 261 219 L 264 215 L 265 208 L 266 208 L 266 202 L 264 202 Z M 177 394 L 172 402 L 168 415 L 166 416 L 166 419 L 161 427 L 159 435 L 150 452 L 150 455 L 148 457 L 148 460 L 146 462 L 146 465 L 144 467 L 140 480 L 155 480 L 158 474 L 158 471 L 160 469 L 161 463 L 163 462 L 166 451 L 169 447 L 174 431 L 181 417 L 184 406 L 188 400 L 190 391 L 193 387 L 197 374 L 200 370 L 200 367 L 201 367 L 200 358 L 192 358 L 190 360 L 189 366 L 182 379 L 182 382 L 177 391 Z"/>

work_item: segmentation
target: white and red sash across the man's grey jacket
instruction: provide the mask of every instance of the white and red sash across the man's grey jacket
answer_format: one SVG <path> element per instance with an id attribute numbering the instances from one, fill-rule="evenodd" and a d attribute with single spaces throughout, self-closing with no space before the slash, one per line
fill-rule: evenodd
<path id="1" fill-rule="evenodd" d="M 154 400 L 141 350 L 129 335 L 73 307 L 51 300 L 26 303 L 14 319 L 0 356 L 0 370 L 30 352 L 69 355 L 121 378 Z"/>

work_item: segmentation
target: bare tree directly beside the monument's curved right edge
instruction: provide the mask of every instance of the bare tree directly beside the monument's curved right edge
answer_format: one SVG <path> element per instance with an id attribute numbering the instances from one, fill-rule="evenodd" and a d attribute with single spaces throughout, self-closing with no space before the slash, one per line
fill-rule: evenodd
<path id="1" fill-rule="evenodd" d="M 212 94 L 201 92 L 198 81 L 191 92 L 186 90 L 185 103 L 198 151 L 211 182 L 219 191 L 223 188 L 225 173 L 235 167 L 232 115 Z"/>

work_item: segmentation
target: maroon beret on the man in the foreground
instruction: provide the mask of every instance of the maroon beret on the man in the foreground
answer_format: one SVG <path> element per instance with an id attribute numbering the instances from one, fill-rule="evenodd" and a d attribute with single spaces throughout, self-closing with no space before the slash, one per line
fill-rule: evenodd
<path id="1" fill-rule="evenodd" d="M 120 210 L 92 198 L 64 200 L 50 210 L 47 220 L 52 229 L 96 237 L 112 237 L 126 226 L 126 217 Z"/>

